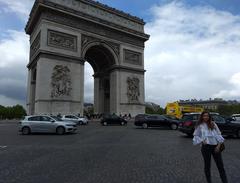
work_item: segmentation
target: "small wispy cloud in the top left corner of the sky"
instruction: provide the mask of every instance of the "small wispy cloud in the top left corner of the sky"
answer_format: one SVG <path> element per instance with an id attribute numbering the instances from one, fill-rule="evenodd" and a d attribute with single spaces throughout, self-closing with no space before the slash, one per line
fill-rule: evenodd
<path id="1" fill-rule="evenodd" d="M 29 12 L 33 6 L 34 0 L 0 0 L 0 4 L 3 4 L 4 12 L 16 13 L 22 20 L 26 21 Z"/>

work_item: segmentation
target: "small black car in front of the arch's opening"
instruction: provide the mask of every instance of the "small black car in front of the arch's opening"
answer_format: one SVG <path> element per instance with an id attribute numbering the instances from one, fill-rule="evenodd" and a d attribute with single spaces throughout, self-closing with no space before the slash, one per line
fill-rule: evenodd
<path id="1" fill-rule="evenodd" d="M 107 115 L 103 115 L 102 119 L 101 119 L 101 124 L 103 126 L 107 126 L 107 125 L 127 125 L 127 121 L 115 114 L 113 115 L 110 115 L 110 114 L 107 114 Z"/>

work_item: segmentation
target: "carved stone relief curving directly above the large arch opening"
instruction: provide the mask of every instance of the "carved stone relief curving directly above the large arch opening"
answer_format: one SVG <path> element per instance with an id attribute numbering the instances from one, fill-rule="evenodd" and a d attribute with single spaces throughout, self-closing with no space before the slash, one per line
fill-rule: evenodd
<path id="1" fill-rule="evenodd" d="M 87 44 L 89 44 L 91 42 L 95 42 L 95 41 L 106 43 L 108 46 L 110 46 L 113 49 L 113 51 L 116 53 L 116 55 L 119 56 L 119 54 L 120 54 L 119 44 L 112 43 L 110 41 L 104 41 L 104 40 L 94 38 L 91 36 L 82 35 L 82 48 L 84 48 Z"/>

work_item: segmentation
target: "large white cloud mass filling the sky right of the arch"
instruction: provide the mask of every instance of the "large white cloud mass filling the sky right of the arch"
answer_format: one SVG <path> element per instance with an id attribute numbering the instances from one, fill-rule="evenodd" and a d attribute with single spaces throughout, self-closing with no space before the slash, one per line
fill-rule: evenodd
<path id="1" fill-rule="evenodd" d="M 151 12 L 146 100 L 165 106 L 179 99 L 229 98 L 226 91 L 235 91 L 231 79 L 240 70 L 240 17 L 179 2 L 154 6 Z M 234 97 L 240 99 L 240 93 Z"/>

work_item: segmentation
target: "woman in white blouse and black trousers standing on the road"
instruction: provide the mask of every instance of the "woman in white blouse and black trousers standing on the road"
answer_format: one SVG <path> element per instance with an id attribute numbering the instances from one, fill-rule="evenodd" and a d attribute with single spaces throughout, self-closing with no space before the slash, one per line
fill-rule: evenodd
<path id="1" fill-rule="evenodd" d="M 201 152 L 204 159 L 204 172 L 208 183 L 211 183 L 211 157 L 215 160 L 221 180 L 227 183 L 227 176 L 224 170 L 221 144 L 224 138 L 216 123 L 212 121 L 209 112 L 202 112 L 193 134 L 193 144 L 201 144 Z"/>

